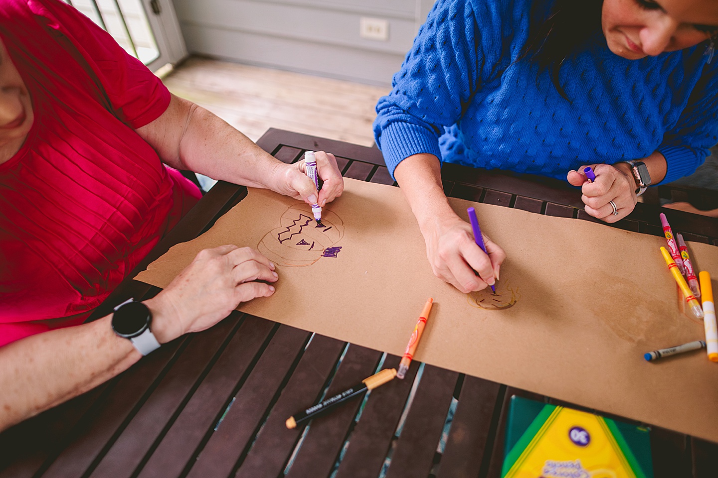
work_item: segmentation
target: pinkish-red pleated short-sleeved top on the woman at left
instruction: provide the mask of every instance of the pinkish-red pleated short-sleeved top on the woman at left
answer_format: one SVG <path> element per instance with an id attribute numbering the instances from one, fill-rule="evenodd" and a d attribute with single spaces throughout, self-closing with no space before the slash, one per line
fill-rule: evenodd
<path id="1" fill-rule="evenodd" d="M 169 92 L 59 0 L 0 0 L 34 124 L 0 164 L 0 346 L 83 322 L 200 197 L 135 128 Z"/>

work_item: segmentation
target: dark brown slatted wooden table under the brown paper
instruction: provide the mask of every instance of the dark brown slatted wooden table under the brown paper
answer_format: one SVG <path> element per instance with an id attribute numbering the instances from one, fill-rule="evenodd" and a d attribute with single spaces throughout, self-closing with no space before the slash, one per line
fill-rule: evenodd
<path id="1" fill-rule="evenodd" d="M 394 184 L 376 148 L 269 130 L 259 145 L 286 163 L 305 150 L 337 156 L 346 177 Z M 596 221 L 562 181 L 444 165 L 450 196 L 536 214 Z M 136 272 L 177 242 L 195 238 L 246 196 L 218 183 Z M 654 198 L 710 191 L 658 188 Z M 658 204 L 638 204 L 615 227 L 662 235 Z M 686 239 L 718 245 L 718 220 L 667 212 Z M 126 280 L 101 317 L 155 287 Z M 239 312 L 175 340 L 125 373 L 0 434 L 0 478 L 12 477 L 499 477 L 513 395 L 552 398 L 412 363 L 404 381 L 343 403 L 288 430 L 287 417 L 399 358 Z M 580 408 L 580 407 L 579 407 Z M 451 412 L 450 412 L 451 411 Z M 447 417 L 452 416 L 451 420 Z M 655 476 L 718 476 L 718 445 L 666 429 L 651 434 Z"/>

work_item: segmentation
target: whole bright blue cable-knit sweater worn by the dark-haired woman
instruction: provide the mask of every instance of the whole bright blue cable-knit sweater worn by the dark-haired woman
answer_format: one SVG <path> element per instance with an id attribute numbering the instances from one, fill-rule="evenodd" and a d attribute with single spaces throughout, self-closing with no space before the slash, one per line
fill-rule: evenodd
<path id="1" fill-rule="evenodd" d="M 718 61 L 706 43 L 629 60 L 596 34 L 548 72 L 523 59 L 531 1 L 438 0 L 374 122 L 394 168 L 416 153 L 566 178 L 582 164 L 666 157 L 663 182 L 693 173 L 718 142 Z M 498 74 L 497 74 L 498 72 Z M 441 138 L 440 138 L 441 137 Z"/>

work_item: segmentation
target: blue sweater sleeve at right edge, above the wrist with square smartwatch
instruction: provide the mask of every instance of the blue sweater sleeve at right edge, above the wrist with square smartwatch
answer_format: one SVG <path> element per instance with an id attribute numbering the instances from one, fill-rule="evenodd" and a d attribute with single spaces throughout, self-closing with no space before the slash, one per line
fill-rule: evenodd
<path id="1" fill-rule="evenodd" d="M 670 183 L 689 176 L 718 143 L 718 64 L 707 64 L 675 127 L 663 135 L 658 152 L 668 170 L 661 181 Z"/>

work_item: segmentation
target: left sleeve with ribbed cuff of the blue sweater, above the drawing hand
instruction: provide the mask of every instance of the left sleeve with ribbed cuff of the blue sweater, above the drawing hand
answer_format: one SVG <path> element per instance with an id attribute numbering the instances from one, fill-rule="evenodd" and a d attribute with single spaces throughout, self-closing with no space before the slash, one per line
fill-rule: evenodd
<path id="1" fill-rule="evenodd" d="M 376 106 L 374 136 L 392 176 L 414 154 L 441 158 L 439 135 L 457 122 L 479 82 L 479 30 L 469 0 L 437 1 L 419 29 L 391 93 Z"/>

